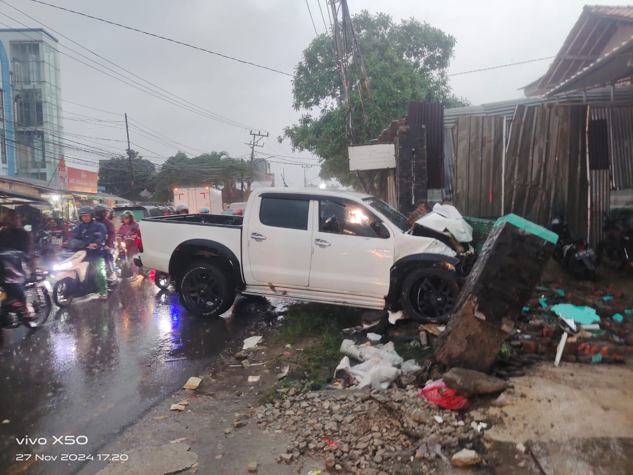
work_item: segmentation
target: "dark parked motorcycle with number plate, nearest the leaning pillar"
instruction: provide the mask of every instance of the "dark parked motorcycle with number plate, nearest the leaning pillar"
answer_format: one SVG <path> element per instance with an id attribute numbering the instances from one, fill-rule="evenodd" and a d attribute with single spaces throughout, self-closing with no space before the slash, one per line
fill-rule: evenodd
<path id="1" fill-rule="evenodd" d="M 587 239 L 575 239 L 562 217 L 556 216 L 551 220 L 549 229 L 558 234 L 558 241 L 554 248 L 554 260 L 561 267 L 579 279 L 596 280 L 596 253 L 592 250 Z"/>

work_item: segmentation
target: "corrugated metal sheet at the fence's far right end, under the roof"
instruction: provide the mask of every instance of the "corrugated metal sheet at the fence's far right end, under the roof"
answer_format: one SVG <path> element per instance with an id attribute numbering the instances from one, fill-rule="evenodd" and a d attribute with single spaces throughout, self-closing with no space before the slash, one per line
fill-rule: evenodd
<path id="1" fill-rule="evenodd" d="M 633 107 L 591 106 L 589 114 L 609 127 L 611 188 L 633 188 Z"/>

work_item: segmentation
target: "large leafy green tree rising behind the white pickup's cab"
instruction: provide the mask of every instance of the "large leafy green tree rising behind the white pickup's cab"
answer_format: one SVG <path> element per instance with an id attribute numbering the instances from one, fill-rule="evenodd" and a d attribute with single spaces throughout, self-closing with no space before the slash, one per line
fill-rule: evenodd
<path id="1" fill-rule="evenodd" d="M 297 124 L 285 127 L 279 141 L 287 138 L 293 150 L 318 156 L 323 180 L 384 194 L 377 184 L 384 182 L 385 172 L 349 172 L 348 145 L 377 138 L 392 120 L 403 117 L 412 101 L 464 105 L 451 93 L 446 74 L 455 39 L 413 18 L 396 23 L 385 13 L 368 11 L 352 16 L 351 24 L 339 22 L 337 28 L 349 44 L 358 45 L 345 63 L 349 97 L 333 32 L 318 35 L 304 49 L 292 82 L 292 106 L 303 114 Z"/>

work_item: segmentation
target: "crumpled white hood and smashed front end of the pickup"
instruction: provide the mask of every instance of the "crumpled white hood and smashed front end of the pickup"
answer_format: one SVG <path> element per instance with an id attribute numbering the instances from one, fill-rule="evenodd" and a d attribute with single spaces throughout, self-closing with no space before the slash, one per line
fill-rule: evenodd
<path id="1" fill-rule="evenodd" d="M 463 219 L 457 208 L 436 203 L 431 212 L 415 222 L 411 234 L 435 238 L 449 246 L 460 260 L 455 266 L 459 276 L 468 276 L 477 259 L 472 245 L 473 229 Z"/>

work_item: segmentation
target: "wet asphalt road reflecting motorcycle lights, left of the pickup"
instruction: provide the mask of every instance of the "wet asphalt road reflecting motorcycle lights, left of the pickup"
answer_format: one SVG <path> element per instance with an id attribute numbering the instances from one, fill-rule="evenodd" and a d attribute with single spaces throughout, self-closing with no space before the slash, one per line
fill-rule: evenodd
<path id="1" fill-rule="evenodd" d="M 197 319 L 173 291 L 161 292 L 149 279 L 123 281 L 107 301 L 87 297 L 66 309 L 53 306 L 43 327 L 6 331 L 0 421 L 9 422 L 0 424 L 0 473 L 67 475 L 81 469 L 78 461 L 62 462 L 63 453 L 97 460 L 117 431 L 244 336 L 253 314 L 235 307 L 222 319 Z M 187 359 L 165 361 L 179 357 Z M 53 436 L 87 444 L 62 445 Z M 25 437 L 46 441 L 16 441 Z M 18 454 L 32 457 L 20 462 Z M 34 461 L 35 454 L 58 459 Z"/>

